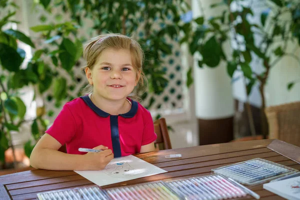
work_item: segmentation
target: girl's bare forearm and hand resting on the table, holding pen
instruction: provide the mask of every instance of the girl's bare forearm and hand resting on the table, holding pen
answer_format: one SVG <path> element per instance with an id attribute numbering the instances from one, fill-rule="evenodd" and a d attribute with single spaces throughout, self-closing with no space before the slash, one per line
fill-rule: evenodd
<path id="1" fill-rule="evenodd" d="M 34 146 L 30 155 L 30 165 L 34 168 L 50 170 L 100 170 L 113 158 L 112 151 L 103 145 L 84 155 L 67 154 L 58 151 L 61 144 L 45 133 Z"/>

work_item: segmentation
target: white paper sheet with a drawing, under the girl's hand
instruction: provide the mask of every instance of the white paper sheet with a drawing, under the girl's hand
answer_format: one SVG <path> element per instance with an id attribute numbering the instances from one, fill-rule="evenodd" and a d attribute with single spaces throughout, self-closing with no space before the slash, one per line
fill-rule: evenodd
<path id="1" fill-rule="evenodd" d="M 75 172 L 93 183 L 103 186 L 167 171 L 138 157 L 128 155 L 113 158 L 103 170 L 76 170 Z"/>

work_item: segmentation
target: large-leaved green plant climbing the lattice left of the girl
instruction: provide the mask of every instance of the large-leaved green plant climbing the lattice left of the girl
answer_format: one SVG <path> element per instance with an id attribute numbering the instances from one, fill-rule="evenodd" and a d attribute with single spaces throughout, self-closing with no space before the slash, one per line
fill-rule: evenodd
<path id="1" fill-rule="evenodd" d="M 36 117 L 32 119 L 24 119 L 26 106 L 21 100 L 21 88 L 31 85 L 36 88 L 34 97 L 47 91 L 53 87 L 53 96 L 55 97 L 57 106 L 60 101 L 67 97 L 66 79 L 59 76 L 58 70 L 67 71 L 71 76 L 71 69 L 77 59 L 81 56 L 81 41 L 77 38 L 72 42 L 70 33 L 75 35 L 76 26 L 71 22 L 64 22 L 51 25 L 38 25 L 31 29 L 34 31 L 42 31 L 45 43 L 51 42 L 50 47 L 35 49 L 32 58 L 23 63 L 25 51 L 17 45 L 19 41 L 28 44 L 31 48 L 35 48 L 31 39 L 22 32 L 14 29 L 2 30 L 2 27 L 10 22 L 16 13 L 18 7 L 9 2 L 2 3 L 3 9 L 7 9 L 8 14 L 0 19 L 0 161 L 4 163 L 4 151 L 11 147 L 14 155 L 14 146 L 11 141 L 11 131 L 18 131 L 24 122 L 31 123 L 31 133 L 34 141 L 28 140 L 24 144 L 25 154 L 29 157 L 35 142 L 46 129 L 48 121 L 45 119 L 45 108 L 37 107 Z M 10 11 L 13 9 L 14 11 Z M 54 34 L 54 36 L 50 36 Z M 60 42 L 56 40 L 60 39 Z M 46 61 L 50 58 L 50 62 Z M 59 62 L 59 61 L 60 62 Z M 22 64 L 26 64 L 25 67 Z M 52 67 L 54 65 L 54 67 Z"/>

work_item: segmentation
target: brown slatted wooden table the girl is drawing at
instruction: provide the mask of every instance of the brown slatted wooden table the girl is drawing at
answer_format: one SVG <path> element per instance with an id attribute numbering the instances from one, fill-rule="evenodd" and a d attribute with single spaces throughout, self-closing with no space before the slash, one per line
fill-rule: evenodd
<path id="1" fill-rule="evenodd" d="M 275 151 L 283 155 L 269 149 L 269 146 L 273 147 L 273 149 L 275 148 Z M 299 149 L 299 147 L 280 140 L 265 139 L 141 153 L 136 154 L 136 156 L 168 172 L 106 185 L 103 188 L 154 180 L 171 180 L 208 175 L 211 173 L 210 170 L 212 168 L 257 157 L 300 169 L 300 164 L 291 160 L 293 158 L 295 158 L 294 160 L 300 159 Z M 167 154 L 175 153 L 181 153 L 182 158 L 164 158 Z M 291 159 L 288 157 L 291 157 Z M 23 171 L 0 176 L 0 199 L 35 199 L 36 193 L 41 191 L 89 185 L 93 185 L 93 183 L 74 171 L 41 169 Z M 262 199 L 282 199 L 264 190 L 262 185 L 249 188 L 257 192 Z M 247 196 L 246 198 L 252 197 Z"/>

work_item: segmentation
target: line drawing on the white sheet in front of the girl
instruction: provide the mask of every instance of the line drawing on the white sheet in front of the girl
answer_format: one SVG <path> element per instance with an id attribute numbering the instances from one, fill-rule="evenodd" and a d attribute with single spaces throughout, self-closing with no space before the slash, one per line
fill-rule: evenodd
<path id="1" fill-rule="evenodd" d="M 114 164 L 107 164 L 103 172 L 111 177 L 128 177 L 136 175 L 136 169 L 131 167 L 128 162 L 117 162 Z"/>

